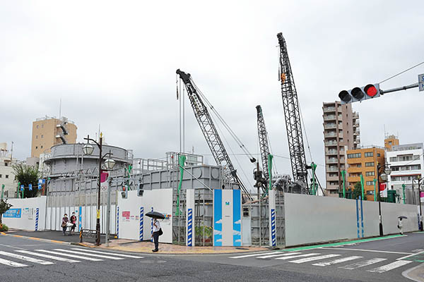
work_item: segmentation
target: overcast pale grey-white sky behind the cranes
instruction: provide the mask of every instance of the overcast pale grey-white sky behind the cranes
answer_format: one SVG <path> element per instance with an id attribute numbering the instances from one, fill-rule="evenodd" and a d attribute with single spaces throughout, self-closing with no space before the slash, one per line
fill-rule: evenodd
<path id="1" fill-rule="evenodd" d="M 424 61 L 423 11 L 423 1 L 0 1 L 0 142 L 29 157 L 32 122 L 59 116 L 61 99 L 78 141 L 100 124 L 108 144 L 165 157 L 179 150 L 181 68 L 253 154 L 261 104 L 278 173 L 291 174 L 277 80 L 283 32 L 324 184 L 322 102 Z M 380 86 L 409 85 L 418 73 L 424 65 Z M 415 88 L 353 104 L 362 145 L 383 146 L 384 126 L 401 143 L 423 142 L 423 95 Z M 186 151 L 213 164 L 185 102 Z M 228 151 L 241 154 L 224 135 Z M 233 163 L 253 184 L 247 157 Z"/>

